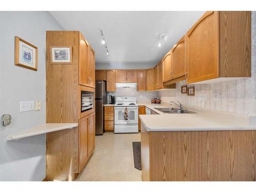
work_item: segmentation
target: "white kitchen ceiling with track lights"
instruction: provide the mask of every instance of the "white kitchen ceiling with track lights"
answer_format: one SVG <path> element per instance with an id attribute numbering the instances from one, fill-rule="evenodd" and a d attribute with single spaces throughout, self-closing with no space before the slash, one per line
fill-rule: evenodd
<path id="1" fill-rule="evenodd" d="M 96 65 L 154 66 L 204 11 L 51 11 L 65 30 L 79 30 L 96 52 Z M 101 44 L 102 29 L 111 58 Z M 157 47 L 159 35 L 167 33 Z M 120 67 L 121 68 L 121 67 Z M 139 67 L 138 67 L 139 68 Z"/>

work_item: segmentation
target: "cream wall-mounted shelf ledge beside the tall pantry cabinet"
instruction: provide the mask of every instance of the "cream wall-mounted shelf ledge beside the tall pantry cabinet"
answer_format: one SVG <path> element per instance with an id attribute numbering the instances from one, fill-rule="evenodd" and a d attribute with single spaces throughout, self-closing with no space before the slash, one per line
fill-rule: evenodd
<path id="1" fill-rule="evenodd" d="M 8 141 L 18 140 L 18 139 L 22 139 L 22 138 L 26 138 L 34 135 L 46 134 L 46 133 L 66 130 L 66 129 L 73 129 L 74 127 L 77 127 L 77 126 L 78 126 L 78 123 L 45 123 L 45 124 L 32 127 L 31 129 L 28 129 L 26 131 L 10 135 L 6 139 Z"/>

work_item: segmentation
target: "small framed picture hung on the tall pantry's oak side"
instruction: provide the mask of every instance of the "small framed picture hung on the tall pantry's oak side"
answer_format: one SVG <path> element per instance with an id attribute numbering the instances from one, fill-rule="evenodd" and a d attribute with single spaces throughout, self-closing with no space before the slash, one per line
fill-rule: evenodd
<path id="1" fill-rule="evenodd" d="M 52 46 L 51 64 L 71 64 L 72 63 L 72 47 Z"/>

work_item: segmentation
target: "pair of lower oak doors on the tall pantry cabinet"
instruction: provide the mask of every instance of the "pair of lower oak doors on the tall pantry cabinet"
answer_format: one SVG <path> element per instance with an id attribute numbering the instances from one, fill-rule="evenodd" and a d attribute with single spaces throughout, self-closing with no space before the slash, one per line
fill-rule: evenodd
<path id="1" fill-rule="evenodd" d="M 79 173 L 95 147 L 95 112 L 79 119 Z"/>

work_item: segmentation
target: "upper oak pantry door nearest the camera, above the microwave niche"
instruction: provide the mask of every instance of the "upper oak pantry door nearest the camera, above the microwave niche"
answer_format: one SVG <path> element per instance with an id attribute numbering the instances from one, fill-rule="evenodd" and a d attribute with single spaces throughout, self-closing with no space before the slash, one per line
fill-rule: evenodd
<path id="1" fill-rule="evenodd" d="M 79 84 L 81 86 L 89 86 L 88 81 L 88 47 L 87 40 L 80 33 L 79 44 Z"/>

